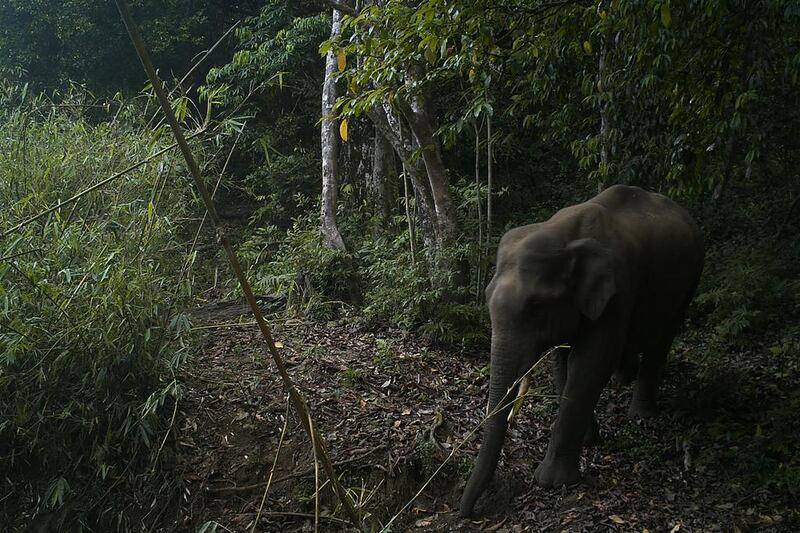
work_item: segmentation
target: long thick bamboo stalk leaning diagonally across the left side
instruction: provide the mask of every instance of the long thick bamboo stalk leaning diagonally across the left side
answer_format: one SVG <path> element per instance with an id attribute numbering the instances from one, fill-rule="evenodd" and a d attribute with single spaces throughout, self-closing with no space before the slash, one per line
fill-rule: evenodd
<path id="1" fill-rule="evenodd" d="M 183 136 L 183 131 L 178 124 L 178 120 L 175 118 L 175 114 L 172 111 L 172 107 L 169 103 L 169 99 L 167 98 L 167 94 L 164 91 L 164 87 L 162 85 L 161 80 L 158 78 L 158 74 L 156 74 L 155 68 L 153 67 L 152 62 L 150 61 L 150 57 L 145 49 L 144 42 L 142 41 L 142 37 L 139 34 L 139 30 L 136 27 L 133 19 L 131 18 L 130 11 L 128 10 L 128 6 L 125 0 L 114 0 L 117 9 L 119 10 L 120 16 L 122 17 L 123 22 L 125 23 L 125 27 L 128 30 L 128 35 L 131 38 L 131 42 L 133 43 L 134 47 L 136 48 L 136 53 L 139 55 L 139 59 L 142 62 L 142 66 L 144 67 L 145 72 L 147 73 L 147 77 L 150 79 L 150 83 L 153 86 L 153 91 L 158 98 L 159 104 L 166 116 L 167 122 L 169 123 L 170 129 L 172 129 L 172 133 L 175 136 L 175 140 L 178 143 L 178 146 L 183 153 L 183 157 L 186 159 L 186 164 L 189 167 L 189 170 L 192 174 L 192 179 L 195 182 L 195 186 L 200 193 L 200 196 L 203 199 L 203 203 L 206 206 L 206 210 L 208 211 L 208 217 L 211 220 L 212 224 L 217 230 L 217 235 L 222 245 L 223 249 L 225 250 L 225 254 L 228 256 L 228 261 L 231 264 L 231 268 L 233 269 L 234 274 L 236 275 L 236 279 L 239 281 L 239 285 L 242 288 L 242 292 L 244 293 L 245 300 L 250 305 L 250 308 L 253 311 L 253 315 L 256 319 L 256 323 L 258 324 L 259 330 L 261 330 L 261 334 L 264 337 L 264 341 L 267 345 L 267 350 L 269 351 L 270 355 L 272 356 L 272 360 L 275 363 L 275 366 L 278 369 L 278 373 L 283 380 L 284 386 L 286 387 L 289 393 L 289 399 L 292 402 L 292 406 L 294 407 L 295 411 L 297 411 L 298 418 L 300 419 L 301 423 L 303 424 L 303 428 L 305 429 L 306 433 L 308 434 L 311 442 L 314 445 L 314 450 L 319 457 L 320 461 L 325 468 L 325 472 L 328 475 L 328 478 L 333 485 L 334 492 L 336 496 L 339 498 L 342 506 L 344 507 L 345 511 L 347 512 L 348 517 L 352 521 L 353 525 L 358 527 L 361 524 L 361 519 L 358 517 L 355 508 L 353 507 L 352 502 L 347 496 L 347 493 L 342 487 L 341 483 L 339 482 L 339 478 L 336 476 L 336 472 L 333 468 L 333 464 L 330 461 L 330 457 L 328 456 L 328 452 L 325 448 L 325 442 L 322 439 L 322 436 L 317 431 L 315 425 L 312 422 L 311 415 L 308 411 L 308 407 L 306 405 L 305 399 L 297 390 L 292 381 L 291 376 L 286 369 L 286 364 L 283 361 L 283 358 L 278 353 L 277 348 L 275 347 L 275 341 L 272 338 L 272 333 L 267 325 L 266 320 L 264 320 L 264 316 L 261 313 L 261 309 L 258 307 L 258 303 L 256 302 L 255 296 L 253 295 L 253 290 L 250 287 L 250 282 L 247 279 L 247 276 L 244 274 L 242 270 L 241 264 L 239 263 L 239 258 L 236 256 L 236 252 L 233 250 L 233 246 L 231 245 L 230 239 L 222 230 L 220 225 L 219 215 L 214 207 L 214 202 L 211 198 L 211 195 L 208 192 L 208 189 L 203 182 L 202 176 L 200 175 L 200 167 L 197 164 L 197 161 L 194 158 L 194 154 L 192 154 L 192 150 L 189 147 L 189 144 L 186 142 L 185 137 Z"/>

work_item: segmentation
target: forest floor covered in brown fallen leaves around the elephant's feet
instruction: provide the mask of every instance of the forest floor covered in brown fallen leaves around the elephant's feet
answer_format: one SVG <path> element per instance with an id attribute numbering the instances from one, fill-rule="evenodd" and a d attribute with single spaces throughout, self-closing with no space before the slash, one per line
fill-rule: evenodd
<path id="1" fill-rule="evenodd" d="M 608 387 L 602 441 L 583 452 L 582 483 L 562 490 L 533 483 L 556 407 L 541 365 L 542 396 L 509 431 L 479 518 L 462 520 L 480 431 L 458 445 L 485 410 L 486 353 L 347 321 L 281 320 L 273 333 L 345 486 L 380 526 L 456 449 L 392 531 L 800 530 L 800 358 L 778 340 L 710 357 L 701 335 L 684 335 L 653 420 L 628 418 L 629 388 Z M 312 531 L 311 445 L 256 328 L 209 327 L 180 379 L 185 501 L 164 529 L 249 531 L 258 515 L 257 531 Z M 330 492 L 320 491 L 320 530 L 346 529 Z"/>

